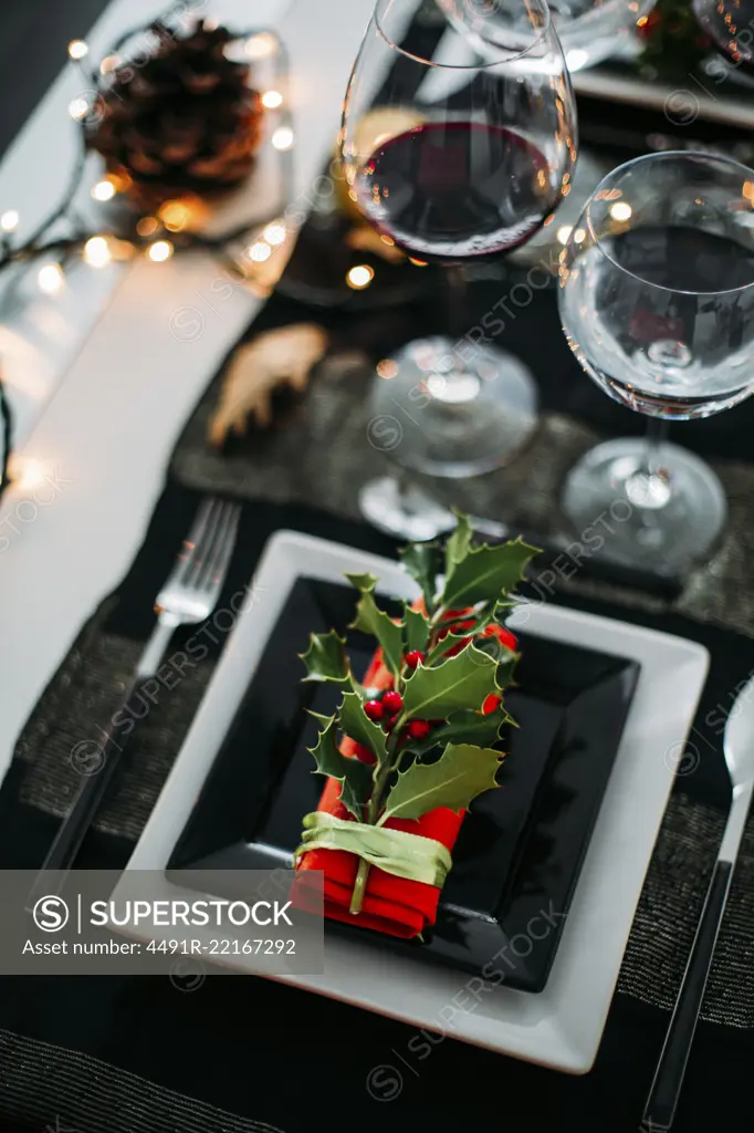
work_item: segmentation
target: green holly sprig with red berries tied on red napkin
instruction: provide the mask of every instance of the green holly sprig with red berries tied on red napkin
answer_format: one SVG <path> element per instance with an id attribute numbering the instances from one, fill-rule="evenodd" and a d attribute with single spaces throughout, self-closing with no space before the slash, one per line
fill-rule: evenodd
<path id="1" fill-rule="evenodd" d="M 320 731 L 309 750 L 316 774 L 341 783 L 341 801 L 357 823 L 418 819 L 436 807 L 465 810 L 497 786 L 504 756 L 495 744 L 503 725 L 513 723 L 503 698 L 519 654 L 495 627 L 515 605 L 538 548 L 522 539 L 477 546 L 472 535 L 469 519 L 459 514 L 444 548 L 422 543 L 401 552 L 422 604 L 404 602 L 399 619 L 377 605 L 374 574 L 346 574 L 360 595 L 350 628 L 376 638 L 393 678 L 382 698 L 354 679 L 345 641 L 334 630 L 312 633 L 301 655 L 306 681 L 343 691 L 335 715 L 312 714 Z M 343 756 L 339 735 L 365 747 L 374 763 Z M 436 750 L 438 758 L 426 758 Z M 352 912 L 361 908 L 368 872 L 361 860 Z"/>

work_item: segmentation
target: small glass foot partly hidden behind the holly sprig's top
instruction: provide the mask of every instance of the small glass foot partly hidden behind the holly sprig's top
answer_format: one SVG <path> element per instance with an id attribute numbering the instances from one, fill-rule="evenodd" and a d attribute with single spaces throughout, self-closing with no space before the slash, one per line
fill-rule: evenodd
<path id="1" fill-rule="evenodd" d="M 415 485 L 403 488 L 392 476 L 365 484 L 359 493 L 361 514 L 386 535 L 426 543 L 455 527 L 452 511 Z"/>

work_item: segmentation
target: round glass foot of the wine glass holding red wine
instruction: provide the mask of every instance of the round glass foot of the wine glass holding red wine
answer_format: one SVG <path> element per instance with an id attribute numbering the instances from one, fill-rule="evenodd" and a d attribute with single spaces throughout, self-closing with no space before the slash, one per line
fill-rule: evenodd
<path id="1" fill-rule="evenodd" d="M 368 436 L 396 463 L 460 478 L 506 465 L 532 437 L 537 385 L 497 347 L 417 339 L 378 367 Z"/>

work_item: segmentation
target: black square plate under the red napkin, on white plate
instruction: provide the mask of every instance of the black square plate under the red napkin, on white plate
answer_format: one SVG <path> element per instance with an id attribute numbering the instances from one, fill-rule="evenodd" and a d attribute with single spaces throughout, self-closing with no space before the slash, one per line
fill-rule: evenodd
<path id="1" fill-rule="evenodd" d="M 225 736 L 169 869 L 272 869 L 290 862 L 301 819 L 324 781 L 311 774 L 317 726 L 303 712 L 332 713 L 336 689 L 302 684 L 298 657 L 311 632 L 346 633 L 355 591 L 300 578 Z M 499 782 L 473 804 L 453 852 L 437 923 L 425 943 L 327 922 L 375 947 L 480 972 L 541 991 L 618 750 L 639 676 L 628 659 L 520 633 L 520 684 L 506 706 L 511 729 Z M 348 631 L 362 675 L 374 640 Z"/>

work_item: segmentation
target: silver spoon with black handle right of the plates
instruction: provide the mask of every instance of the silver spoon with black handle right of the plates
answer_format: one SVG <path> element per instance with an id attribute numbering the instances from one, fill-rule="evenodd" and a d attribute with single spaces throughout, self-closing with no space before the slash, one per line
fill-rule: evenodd
<path id="1" fill-rule="evenodd" d="M 718 931 L 746 828 L 754 794 L 754 678 L 738 693 L 730 709 L 723 752 L 732 784 L 732 802 L 702 919 L 644 1109 L 642 1130 L 646 1133 L 669 1130 L 676 1116 Z"/>

